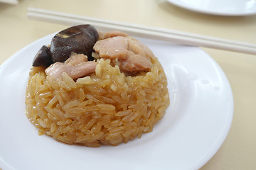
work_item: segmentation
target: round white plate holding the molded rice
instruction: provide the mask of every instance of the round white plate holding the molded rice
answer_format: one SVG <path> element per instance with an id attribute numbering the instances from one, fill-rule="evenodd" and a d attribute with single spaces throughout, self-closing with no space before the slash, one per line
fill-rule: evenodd
<path id="1" fill-rule="evenodd" d="M 34 55 L 52 37 L 24 47 L 0 67 L 2 169 L 198 169 L 228 135 L 233 95 L 218 64 L 198 47 L 140 39 L 163 64 L 172 103 L 153 132 L 99 148 L 38 136 L 24 114 L 26 81 Z"/>

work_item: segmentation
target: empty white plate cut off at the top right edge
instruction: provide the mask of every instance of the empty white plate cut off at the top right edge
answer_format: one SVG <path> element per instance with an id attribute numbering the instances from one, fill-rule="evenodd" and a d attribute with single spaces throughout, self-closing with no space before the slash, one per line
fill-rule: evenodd
<path id="1" fill-rule="evenodd" d="M 256 14 L 256 0 L 167 0 L 191 11 L 220 16 L 247 16 Z"/>

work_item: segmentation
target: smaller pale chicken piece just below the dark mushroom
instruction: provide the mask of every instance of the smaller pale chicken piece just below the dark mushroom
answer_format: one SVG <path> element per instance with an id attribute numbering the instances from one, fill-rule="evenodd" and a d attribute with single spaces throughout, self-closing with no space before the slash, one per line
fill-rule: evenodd
<path id="1" fill-rule="evenodd" d="M 84 77 L 87 74 L 95 72 L 97 62 L 87 61 L 86 55 L 72 55 L 68 60 L 55 62 L 48 67 L 45 72 L 55 79 L 62 79 L 63 72 L 67 73 L 72 79 Z"/>

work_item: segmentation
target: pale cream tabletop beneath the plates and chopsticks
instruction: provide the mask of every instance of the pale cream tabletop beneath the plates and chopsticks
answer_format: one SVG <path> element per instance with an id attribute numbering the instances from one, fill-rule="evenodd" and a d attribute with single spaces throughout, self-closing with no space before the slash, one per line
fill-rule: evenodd
<path id="1" fill-rule="evenodd" d="M 0 3 L 0 64 L 31 42 L 67 28 L 29 20 L 28 7 L 256 43 L 256 15 L 213 16 L 187 11 L 164 0 L 20 0 L 18 5 Z M 228 137 L 201 169 L 256 169 L 256 56 L 202 49 L 228 77 L 235 106 Z"/>

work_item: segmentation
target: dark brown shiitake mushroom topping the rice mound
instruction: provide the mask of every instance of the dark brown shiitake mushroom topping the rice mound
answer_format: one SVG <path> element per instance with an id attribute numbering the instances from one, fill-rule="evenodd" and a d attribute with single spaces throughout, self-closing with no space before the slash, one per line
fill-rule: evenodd
<path id="1" fill-rule="evenodd" d="M 95 27 L 88 24 L 61 30 L 51 40 L 50 47 L 41 47 L 33 60 L 33 66 L 48 67 L 54 62 L 65 62 L 72 52 L 87 55 L 88 60 L 94 60 L 92 47 L 98 38 Z"/>

